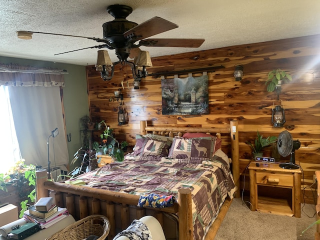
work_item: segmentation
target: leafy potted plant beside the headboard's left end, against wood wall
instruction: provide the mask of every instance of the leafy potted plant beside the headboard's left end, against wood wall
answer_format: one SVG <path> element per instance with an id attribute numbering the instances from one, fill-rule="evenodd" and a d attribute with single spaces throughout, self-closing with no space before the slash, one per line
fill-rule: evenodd
<path id="1" fill-rule="evenodd" d="M 101 146 L 103 154 L 108 154 L 115 161 L 123 161 L 124 149 L 128 145 L 127 141 L 122 141 L 121 143 L 119 143 L 112 134 L 113 129 L 109 128 L 104 120 L 100 121 L 99 124 L 104 124 L 105 126 L 105 129 L 100 134 L 100 138 L 104 143 Z M 94 142 L 93 145 L 96 147 L 96 142 Z"/>

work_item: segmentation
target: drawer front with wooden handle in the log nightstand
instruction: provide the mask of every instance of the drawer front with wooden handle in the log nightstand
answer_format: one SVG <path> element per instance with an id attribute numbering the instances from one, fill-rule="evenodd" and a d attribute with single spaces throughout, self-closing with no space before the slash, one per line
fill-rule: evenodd
<path id="1" fill-rule="evenodd" d="M 292 174 L 280 174 L 270 172 L 256 172 L 257 184 L 268 184 L 277 186 L 293 186 Z"/>

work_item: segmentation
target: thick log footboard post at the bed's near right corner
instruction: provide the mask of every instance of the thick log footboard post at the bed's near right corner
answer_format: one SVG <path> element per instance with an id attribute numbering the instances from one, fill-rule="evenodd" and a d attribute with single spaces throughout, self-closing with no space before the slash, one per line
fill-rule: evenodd
<path id="1" fill-rule="evenodd" d="M 179 239 L 193 240 L 191 190 L 178 190 Z"/>

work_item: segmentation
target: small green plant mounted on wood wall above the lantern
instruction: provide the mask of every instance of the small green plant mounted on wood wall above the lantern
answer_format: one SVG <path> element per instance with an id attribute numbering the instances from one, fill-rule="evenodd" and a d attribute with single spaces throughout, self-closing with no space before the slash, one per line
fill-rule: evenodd
<path id="1" fill-rule="evenodd" d="M 265 82 L 266 90 L 271 92 L 275 89 L 280 90 L 280 85 L 282 83 L 291 81 L 292 77 L 290 74 L 282 71 L 280 68 L 273 69 L 268 73 L 268 79 Z"/>

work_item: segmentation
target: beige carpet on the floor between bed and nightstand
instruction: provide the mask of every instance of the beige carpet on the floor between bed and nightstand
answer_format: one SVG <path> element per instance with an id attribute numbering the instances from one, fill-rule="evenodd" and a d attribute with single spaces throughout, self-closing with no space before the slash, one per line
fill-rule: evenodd
<path id="1" fill-rule="evenodd" d="M 301 204 L 300 218 L 251 211 L 241 198 L 234 198 L 214 239 L 313 240 L 315 225 L 302 236 L 300 234 L 316 220 L 314 213 L 313 204 Z"/>

